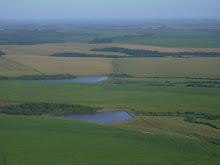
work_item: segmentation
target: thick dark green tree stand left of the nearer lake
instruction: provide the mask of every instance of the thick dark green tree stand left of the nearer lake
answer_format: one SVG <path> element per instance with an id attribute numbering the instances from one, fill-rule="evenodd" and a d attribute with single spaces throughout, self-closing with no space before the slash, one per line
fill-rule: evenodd
<path id="1" fill-rule="evenodd" d="M 95 113 L 101 108 L 72 104 L 25 103 L 0 106 L 0 114 L 8 115 L 58 115 L 65 113 Z"/>

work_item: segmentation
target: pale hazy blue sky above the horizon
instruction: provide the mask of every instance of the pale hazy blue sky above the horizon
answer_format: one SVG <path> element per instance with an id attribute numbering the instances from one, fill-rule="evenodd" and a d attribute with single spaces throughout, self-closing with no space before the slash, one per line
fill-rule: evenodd
<path id="1" fill-rule="evenodd" d="M 0 0 L 0 19 L 220 18 L 220 0 Z"/>

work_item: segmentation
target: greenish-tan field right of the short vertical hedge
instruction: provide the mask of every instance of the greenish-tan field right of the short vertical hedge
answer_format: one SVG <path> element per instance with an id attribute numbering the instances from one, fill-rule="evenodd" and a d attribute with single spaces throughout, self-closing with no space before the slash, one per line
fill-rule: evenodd
<path id="1" fill-rule="evenodd" d="M 134 77 L 220 78 L 220 58 L 123 58 L 114 61 L 115 70 Z"/>

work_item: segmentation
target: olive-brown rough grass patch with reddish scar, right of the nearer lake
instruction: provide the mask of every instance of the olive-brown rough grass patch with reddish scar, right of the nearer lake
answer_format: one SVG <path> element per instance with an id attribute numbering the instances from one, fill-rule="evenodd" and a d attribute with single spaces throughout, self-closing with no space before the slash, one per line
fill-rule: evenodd
<path id="1" fill-rule="evenodd" d="M 143 120 L 151 123 L 147 124 Z M 209 120 L 211 121 L 211 120 Z M 174 136 L 190 136 L 203 140 L 219 141 L 220 130 L 203 124 L 184 121 L 182 117 L 142 116 L 112 124 L 115 127 L 140 132 L 154 132 Z"/>

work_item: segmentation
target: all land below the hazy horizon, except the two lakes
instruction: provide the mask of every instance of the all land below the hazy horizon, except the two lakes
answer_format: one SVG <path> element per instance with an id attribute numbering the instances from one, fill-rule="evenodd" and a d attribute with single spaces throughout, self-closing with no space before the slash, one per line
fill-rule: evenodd
<path id="1" fill-rule="evenodd" d="M 194 23 L 0 29 L 0 165 L 218 164 L 220 31 Z M 133 119 L 55 117 L 105 111 Z"/>

